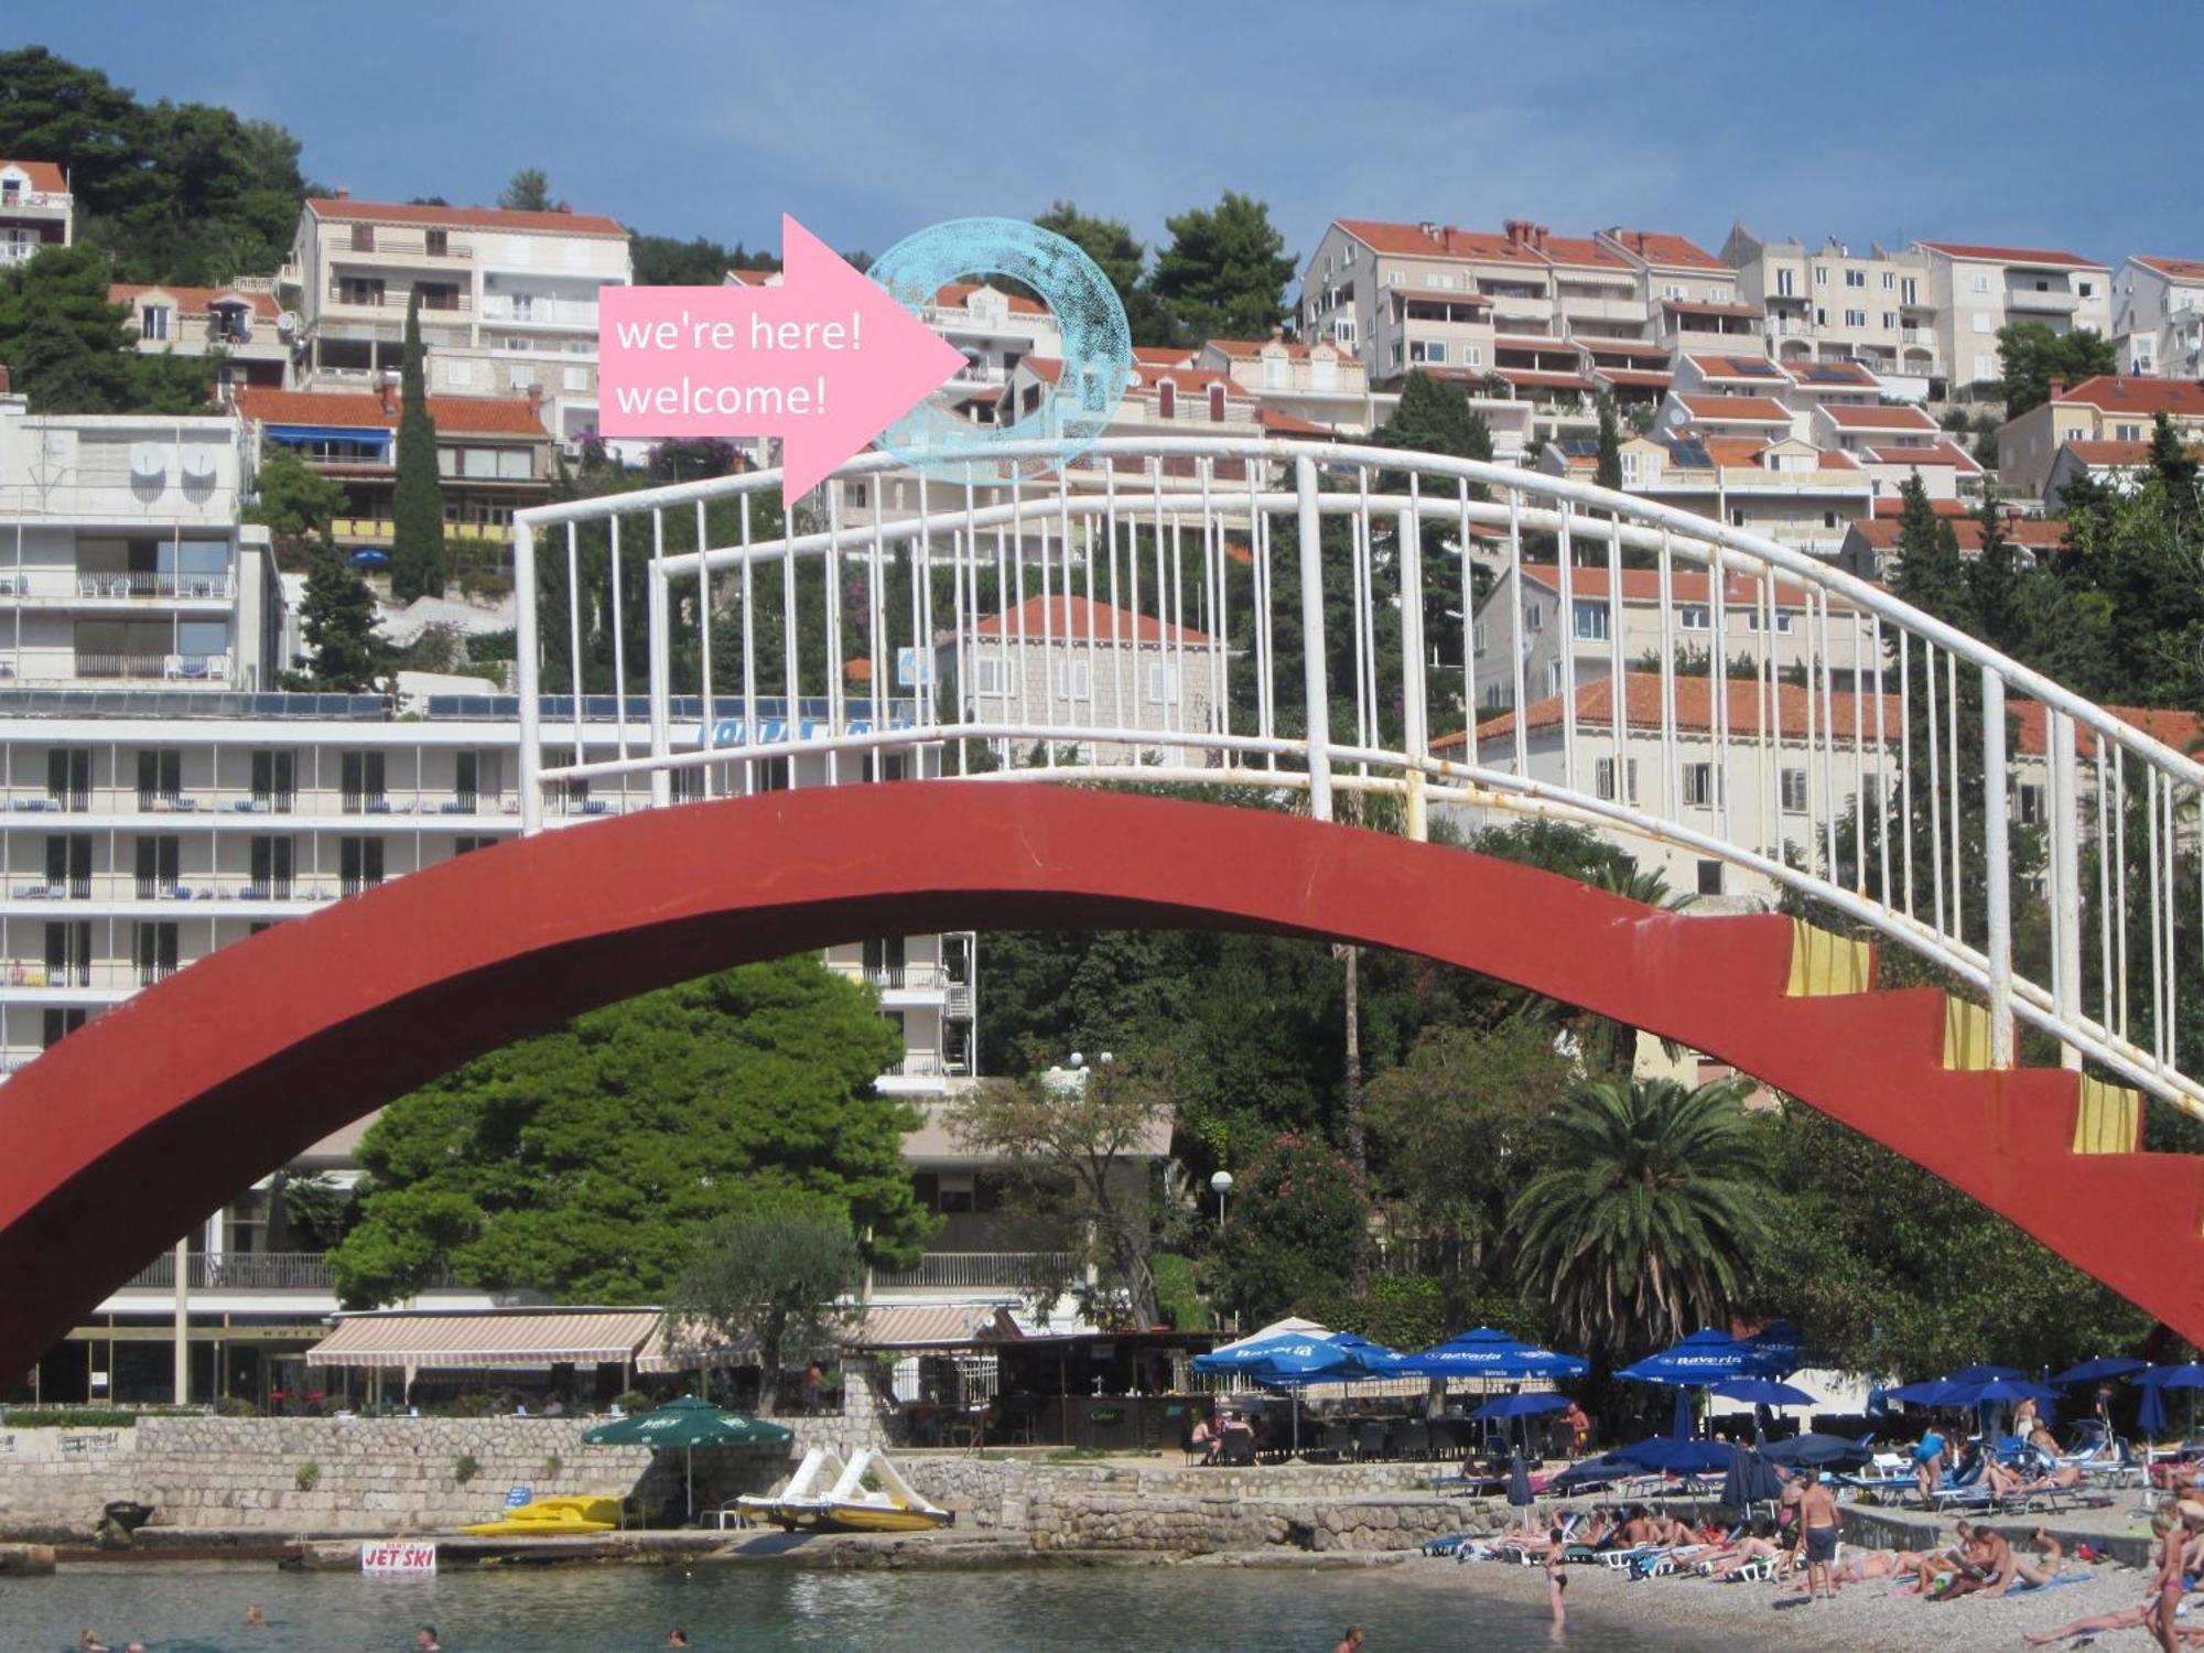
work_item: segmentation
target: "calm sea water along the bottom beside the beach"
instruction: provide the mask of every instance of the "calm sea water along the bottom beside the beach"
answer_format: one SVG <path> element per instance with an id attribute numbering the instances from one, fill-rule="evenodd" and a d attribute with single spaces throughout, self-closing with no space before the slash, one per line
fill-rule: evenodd
<path id="1" fill-rule="evenodd" d="M 1470 1589 L 1470 1569 L 1095 1567 L 793 1571 L 780 1567 L 487 1569 L 419 1580 L 269 1567 L 101 1563 L 0 1580 L 0 1649 L 71 1653 L 84 1629 L 150 1653 L 406 1653 L 434 1624 L 447 1653 L 694 1649 L 851 1653 L 1366 1653 L 1552 1649 L 1543 1602 Z M 264 1629 L 242 1629 L 258 1602 Z M 1666 1653 L 1682 1642 L 1571 1616 L 1569 1653 Z"/>

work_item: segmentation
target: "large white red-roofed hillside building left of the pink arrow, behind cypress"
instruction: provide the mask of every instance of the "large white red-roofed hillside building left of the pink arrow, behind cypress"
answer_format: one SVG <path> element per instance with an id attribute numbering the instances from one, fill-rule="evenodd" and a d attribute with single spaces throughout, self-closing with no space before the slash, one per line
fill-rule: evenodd
<path id="1" fill-rule="evenodd" d="M 278 291 L 300 317 L 302 388 L 379 388 L 403 364 L 419 293 L 432 392 L 536 397 L 573 445 L 597 428 L 597 289 L 633 280 L 613 218 L 339 192 L 306 201 Z"/>

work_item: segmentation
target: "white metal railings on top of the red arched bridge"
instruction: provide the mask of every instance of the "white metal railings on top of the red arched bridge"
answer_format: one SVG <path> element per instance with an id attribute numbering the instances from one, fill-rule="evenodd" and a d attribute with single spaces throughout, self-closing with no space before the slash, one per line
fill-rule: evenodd
<path id="1" fill-rule="evenodd" d="M 1878 930 L 1988 1003 L 1999 1065 L 2025 1023 L 2204 1117 L 2204 769 L 2140 727 L 1569 478 L 1199 436 L 996 456 L 866 456 L 791 520 L 778 472 L 520 511 L 525 827 L 591 787 L 983 774 L 1384 798 L 1417 838 L 1563 820 Z"/>

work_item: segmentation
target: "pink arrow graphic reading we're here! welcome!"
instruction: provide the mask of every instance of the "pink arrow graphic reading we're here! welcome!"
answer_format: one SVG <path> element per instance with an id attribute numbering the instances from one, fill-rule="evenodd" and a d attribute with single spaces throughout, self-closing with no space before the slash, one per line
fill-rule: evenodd
<path id="1" fill-rule="evenodd" d="M 606 436 L 780 436 L 796 498 L 965 366 L 827 242 L 782 214 L 780 287 L 604 287 Z"/>

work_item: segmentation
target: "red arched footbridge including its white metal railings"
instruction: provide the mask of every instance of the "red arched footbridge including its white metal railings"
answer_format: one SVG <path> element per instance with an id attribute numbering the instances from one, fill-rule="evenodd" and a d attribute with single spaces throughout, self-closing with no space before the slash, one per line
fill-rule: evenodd
<path id="1" fill-rule="evenodd" d="M 207 957 L 0 1087 L 0 1369 L 469 1056 L 952 928 L 1479 970 L 1737 1065 L 2204 1340 L 2204 1157 L 2142 1148 L 2149 1109 L 2204 1115 L 2193 760 L 1812 549 L 1569 478 L 1228 439 L 1025 474 L 1056 458 L 866 458 L 787 516 L 774 472 L 525 514 L 522 840 Z M 1157 796 L 1217 787 L 1289 809 Z M 1514 818 L 1715 893 L 1424 842 Z M 1893 950 L 1948 990 L 1878 987 Z"/>

